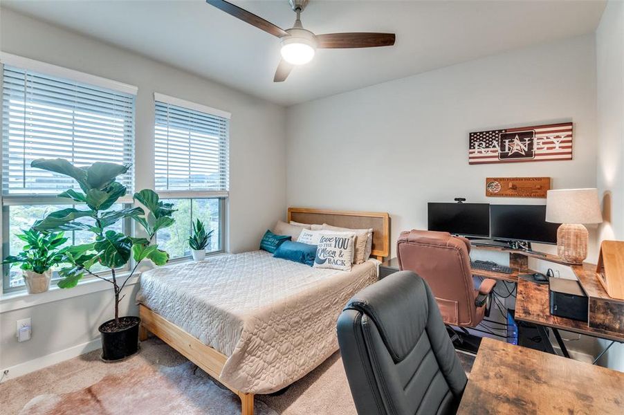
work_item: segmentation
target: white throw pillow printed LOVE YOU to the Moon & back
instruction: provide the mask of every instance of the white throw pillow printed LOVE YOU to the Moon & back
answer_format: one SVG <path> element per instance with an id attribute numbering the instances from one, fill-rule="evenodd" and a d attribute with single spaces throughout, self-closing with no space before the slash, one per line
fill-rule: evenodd
<path id="1" fill-rule="evenodd" d="M 354 234 L 322 234 L 316 247 L 315 268 L 351 270 L 354 257 Z"/>

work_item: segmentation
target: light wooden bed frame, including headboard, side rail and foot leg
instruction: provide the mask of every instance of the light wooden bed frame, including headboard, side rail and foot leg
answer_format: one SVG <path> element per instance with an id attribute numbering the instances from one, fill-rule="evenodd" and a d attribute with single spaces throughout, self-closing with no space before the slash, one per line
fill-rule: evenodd
<path id="1" fill-rule="evenodd" d="M 341 226 L 343 228 L 372 228 L 373 246 L 371 255 L 383 261 L 389 255 L 389 215 L 385 212 L 345 212 L 340 210 L 321 210 L 309 208 L 288 208 L 288 222 L 313 223 L 322 225 Z M 139 304 L 141 325 L 139 340 L 147 340 L 148 333 L 156 335 L 181 353 L 185 358 L 200 367 L 212 378 L 221 382 L 237 394 L 241 399 L 241 414 L 253 415 L 254 394 L 246 394 L 235 387 L 223 382 L 219 375 L 226 364 L 228 356 L 206 346 L 200 340 L 190 335 L 164 317 L 154 313 L 143 304 Z"/>

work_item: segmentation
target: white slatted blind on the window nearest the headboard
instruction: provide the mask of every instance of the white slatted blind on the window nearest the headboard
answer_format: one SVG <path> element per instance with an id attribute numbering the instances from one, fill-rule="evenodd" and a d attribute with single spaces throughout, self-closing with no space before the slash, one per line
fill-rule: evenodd
<path id="1" fill-rule="evenodd" d="M 156 190 L 229 190 L 228 118 L 156 100 Z"/>

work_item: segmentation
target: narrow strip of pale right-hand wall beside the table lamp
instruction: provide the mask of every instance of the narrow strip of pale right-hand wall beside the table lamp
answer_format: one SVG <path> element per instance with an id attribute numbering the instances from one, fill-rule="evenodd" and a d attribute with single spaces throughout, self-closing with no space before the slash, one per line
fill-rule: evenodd
<path id="1" fill-rule="evenodd" d="M 599 239 L 624 239 L 624 3 L 609 1 L 596 30 L 598 188 L 603 194 Z M 607 342 L 602 342 L 603 347 Z M 624 371 L 624 345 L 603 364 Z"/>

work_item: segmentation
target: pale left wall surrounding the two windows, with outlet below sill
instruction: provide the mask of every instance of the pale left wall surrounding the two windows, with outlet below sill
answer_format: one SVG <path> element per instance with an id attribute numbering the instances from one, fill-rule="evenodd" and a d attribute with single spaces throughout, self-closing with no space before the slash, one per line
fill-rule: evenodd
<path id="1" fill-rule="evenodd" d="M 283 107 L 11 10 L 0 10 L 0 26 L 4 52 L 138 86 L 139 172 L 153 172 L 154 91 L 230 111 L 230 250 L 255 249 L 261 234 L 282 219 L 286 210 Z M 137 176 L 138 189 L 152 185 L 152 174 Z M 136 313 L 130 298 L 123 308 Z M 97 339 L 98 322 L 111 313 L 108 292 L 1 313 L 0 368 Z M 28 316 L 33 318 L 33 339 L 18 345 L 15 320 Z"/>

